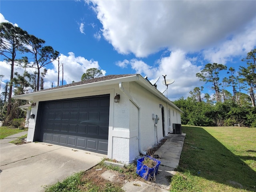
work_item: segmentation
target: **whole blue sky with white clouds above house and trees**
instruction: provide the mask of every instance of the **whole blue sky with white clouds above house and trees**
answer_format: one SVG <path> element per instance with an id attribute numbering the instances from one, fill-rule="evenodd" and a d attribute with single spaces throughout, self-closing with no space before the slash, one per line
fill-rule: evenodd
<path id="1" fill-rule="evenodd" d="M 160 76 L 163 92 L 166 74 L 175 80 L 170 100 L 200 86 L 211 95 L 196 73 L 213 62 L 238 70 L 256 47 L 256 1 L 1 0 L 0 22 L 17 24 L 60 52 L 66 83 L 96 67 L 104 75 Z M 3 60 L 1 92 L 10 78 Z M 56 62 L 47 68 L 44 88 L 57 85 Z"/>

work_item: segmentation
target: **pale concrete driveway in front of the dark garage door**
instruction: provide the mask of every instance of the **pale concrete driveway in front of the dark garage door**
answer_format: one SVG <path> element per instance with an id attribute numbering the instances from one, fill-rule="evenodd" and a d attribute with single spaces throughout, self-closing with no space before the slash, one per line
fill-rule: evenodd
<path id="1" fill-rule="evenodd" d="M 44 191 L 44 186 L 88 170 L 106 157 L 43 142 L 16 146 L 7 141 L 3 139 L 0 144 L 1 192 Z"/>

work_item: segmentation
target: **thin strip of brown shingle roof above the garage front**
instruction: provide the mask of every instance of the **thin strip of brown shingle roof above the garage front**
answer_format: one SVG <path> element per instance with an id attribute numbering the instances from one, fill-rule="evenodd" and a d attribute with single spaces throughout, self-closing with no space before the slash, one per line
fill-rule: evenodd
<path id="1" fill-rule="evenodd" d="M 66 84 L 66 85 L 62 85 L 62 86 L 58 86 L 58 87 L 52 87 L 52 88 L 48 88 L 48 89 L 44 89 L 44 90 L 39 90 L 37 92 L 45 91 L 45 90 L 59 89 L 59 88 L 64 88 L 64 87 L 72 87 L 72 86 L 76 86 L 76 85 L 106 81 L 106 80 L 111 80 L 111 79 L 118 79 L 118 78 L 122 78 L 122 77 L 133 76 L 133 75 L 136 75 L 136 74 L 107 75 L 107 76 L 102 76 L 102 77 L 93 78 L 93 79 L 89 79 L 89 80 L 79 81 L 79 82 L 75 82 L 75 83 L 71 83 L 71 84 Z"/>

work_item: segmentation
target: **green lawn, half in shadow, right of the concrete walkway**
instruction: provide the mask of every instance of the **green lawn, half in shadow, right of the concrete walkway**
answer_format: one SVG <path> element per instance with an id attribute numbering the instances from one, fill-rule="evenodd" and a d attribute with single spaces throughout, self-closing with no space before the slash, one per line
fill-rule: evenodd
<path id="1" fill-rule="evenodd" d="M 171 191 L 256 191 L 256 128 L 182 126 L 182 132 Z"/>

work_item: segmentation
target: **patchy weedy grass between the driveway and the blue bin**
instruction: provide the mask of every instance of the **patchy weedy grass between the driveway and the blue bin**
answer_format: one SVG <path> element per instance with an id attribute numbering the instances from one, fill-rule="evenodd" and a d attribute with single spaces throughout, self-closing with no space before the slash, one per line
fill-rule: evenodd
<path id="1" fill-rule="evenodd" d="M 52 186 L 46 186 L 45 192 L 124 192 L 122 186 L 124 180 L 143 180 L 136 174 L 136 165 L 129 164 L 124 168 L 118 166 L 107 166 L 103 159 L 98 165 L 90 170 L 78 172 L 57 182 Z M 114 182 L 105 180 L 100 175 L 106 170 L 112 170 L 117 177 Z"/>

